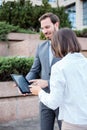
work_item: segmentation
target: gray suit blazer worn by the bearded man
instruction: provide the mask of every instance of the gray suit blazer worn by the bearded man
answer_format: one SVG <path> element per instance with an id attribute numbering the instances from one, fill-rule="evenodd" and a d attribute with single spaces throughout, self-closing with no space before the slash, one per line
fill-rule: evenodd
<path id="1" fill-rule="evenodd" d="M 54 57 L 53 64 L 59 60 L 60 58 Z M 46 41 L 38 45 L 34 63 L 29 73 L 26 75 L 26 79 L 31 80 L 41 78 L 49 81 L 50 73 L 51 66 L 49 63 L 49 41 Z M 45 90 L 49 91 L 48 87 Z"/>

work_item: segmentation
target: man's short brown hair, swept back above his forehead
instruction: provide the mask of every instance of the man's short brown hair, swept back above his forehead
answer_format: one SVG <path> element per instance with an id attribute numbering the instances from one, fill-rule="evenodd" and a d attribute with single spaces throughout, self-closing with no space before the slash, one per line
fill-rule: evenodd
<path id="1" fill-rule="evenodd" d="M 41 22 L 42 20 L 46 19 L 46 18 L 50 18 L 51 22 L 53 24 L 55 24 L 56 22 L 59 22 L 59 17 L 53 13 L 45 13 L 43 14 L 40 18 L 39 18 L 39 22 Z"/>

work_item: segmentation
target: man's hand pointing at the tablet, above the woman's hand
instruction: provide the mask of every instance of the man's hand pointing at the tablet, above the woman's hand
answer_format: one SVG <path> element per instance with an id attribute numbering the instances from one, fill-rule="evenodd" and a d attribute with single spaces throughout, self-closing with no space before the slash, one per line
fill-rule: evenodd
<path id="1" fill-rule="evenodd" d="M 30 80 L 29 82 L 33 82 L 32 85 L 39 86 L 41 88 L 46 88 L 48 86 L 48 81 L 43 79 Z"/>

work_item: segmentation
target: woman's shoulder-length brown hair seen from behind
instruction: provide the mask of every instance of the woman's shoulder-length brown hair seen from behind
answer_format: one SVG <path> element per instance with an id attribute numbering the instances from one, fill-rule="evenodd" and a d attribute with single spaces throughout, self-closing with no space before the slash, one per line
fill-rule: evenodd
<path id="1" fill-rule="evenodd" d="M 56 57 L 64 57 L 69 52 L 81 51 L 76 34 L 69 28 L 63 28 L 54 32 L 51 47 Z"/>

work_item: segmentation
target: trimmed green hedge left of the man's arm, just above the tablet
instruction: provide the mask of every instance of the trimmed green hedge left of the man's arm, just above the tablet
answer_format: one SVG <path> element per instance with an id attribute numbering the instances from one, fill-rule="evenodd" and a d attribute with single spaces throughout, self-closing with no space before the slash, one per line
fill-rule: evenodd
<path id="1" fill-rule="evenodd" d="M 29 72 L 34 58 L 0 57 L 0 81 L 12 80 L 10 74 L 23 74 Z"/>

